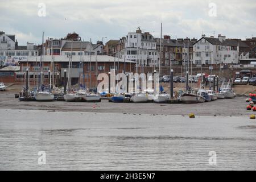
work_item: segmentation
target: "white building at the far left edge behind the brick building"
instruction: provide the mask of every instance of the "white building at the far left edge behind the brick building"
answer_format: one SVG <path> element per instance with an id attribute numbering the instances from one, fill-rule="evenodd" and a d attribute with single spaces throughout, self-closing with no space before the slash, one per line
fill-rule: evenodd
<path id="1" fill-rule="evenodd" d="M 27 46 L 18 46 L 15 35 L 7 35 L 0 31 L 0 61 L 3 64 L 18 64 L 18 61 L 27 59 L 28 56 L 38 56 L 38 51 L 33 43 Z"/>

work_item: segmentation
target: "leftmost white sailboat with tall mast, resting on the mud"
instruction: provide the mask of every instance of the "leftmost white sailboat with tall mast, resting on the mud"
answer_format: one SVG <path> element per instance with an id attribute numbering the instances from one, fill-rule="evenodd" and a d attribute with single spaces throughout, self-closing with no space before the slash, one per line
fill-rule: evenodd
<path id="1" fill-rule="evenodd" d="M 54 100 L 54 95 L 51 92 L 47 92 L 47 90 L 44 90 L 43 88 L 43 44 L 44 44 L 44 32 L 43 32 L 43 41 L 42 41 L 42 54 L 41 54 L 41 64 L 40 64 L 40 69 L 42 70 L 42 72 L 40 73 L 40 87 L 39 87 L 39 91 L 36 92 L 35 94 L 35 100 L 36 101 L 53 101 Z M 48 78 L 49 79 L 49 78 Z M 50 90 L 51 88 L 49 88 Z"/>

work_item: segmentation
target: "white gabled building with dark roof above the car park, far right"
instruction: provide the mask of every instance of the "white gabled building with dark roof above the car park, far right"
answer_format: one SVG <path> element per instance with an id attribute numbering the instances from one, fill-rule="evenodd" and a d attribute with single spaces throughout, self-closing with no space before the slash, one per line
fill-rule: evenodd
<path id="1" fill-rule="evenodd" d="M 193 44 L 193 64 L 238 64 L 239 42 L 226 39 L 218 35 L 218 38 L 202 36 Z"/>

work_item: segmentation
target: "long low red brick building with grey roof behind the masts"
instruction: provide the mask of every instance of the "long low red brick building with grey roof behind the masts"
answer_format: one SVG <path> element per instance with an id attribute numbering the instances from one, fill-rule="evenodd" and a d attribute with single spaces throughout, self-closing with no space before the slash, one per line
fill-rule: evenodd
<path id="1" fill-rule="evenodd" d="M 54 57 L 54 66 L 52 56 L 44 56 L 43 58 L 43 76 L 44 84 L 48 84 L 48 71 L 52 67 L 51 75 L 54 77 L 55 83 L 63 85 L 64 81 L 64 70 L 68 68 L 69 63 L 72 60 L 72 69 L 69 72 L 72 85 L 78 84 L 80 82 L 82 70 L 84 71 L 84 80 L 81 82 L 85 84 L 86 87 L 96 88 L 97 86 L 97 75 L 100 73 L 108 73 L 110 69 L 116 69 L 117 73 L 134 72 L 135 63 L 132 61 L 126 61 L 118 59 L 117 57 L 112 56 L 83 56 L 80 60 L 80 56 L 53 56 Z M 52 63 L 52 66 L 51 66 Z M 84 64 L 84 67 L 82 67 Z M 91 66 L 91 69 L 90 69 Z M 53 73 L 54 67 L 54 73 Z M 40 77 L 40 56 L 35 57 L 34 59 L 28 59 L 28 61 L 20 61 L 20 71 L 15 75 L 15 81 L 24 81 L 24 74 L 26 69 L 29 71 L 29 80 L 30 84 L 36 84 Z M 54 76 L 53 76 L 54 75 Z M 90 79 L 91 75 L 91 79 Z"/>

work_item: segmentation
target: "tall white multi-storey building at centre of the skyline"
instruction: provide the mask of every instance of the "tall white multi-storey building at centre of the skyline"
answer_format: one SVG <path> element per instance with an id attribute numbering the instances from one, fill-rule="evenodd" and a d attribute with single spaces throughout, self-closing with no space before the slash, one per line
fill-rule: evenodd
<path id="1" fill-rule="evenodd" d="M 158 65 L 158 50 L 156 41 L 149 32 L 139 29 L 136 32 L 129 32 L 126 36 L 125 49 L 122 50 L 122 58 L 137 62 L 140 66 Z"/>

